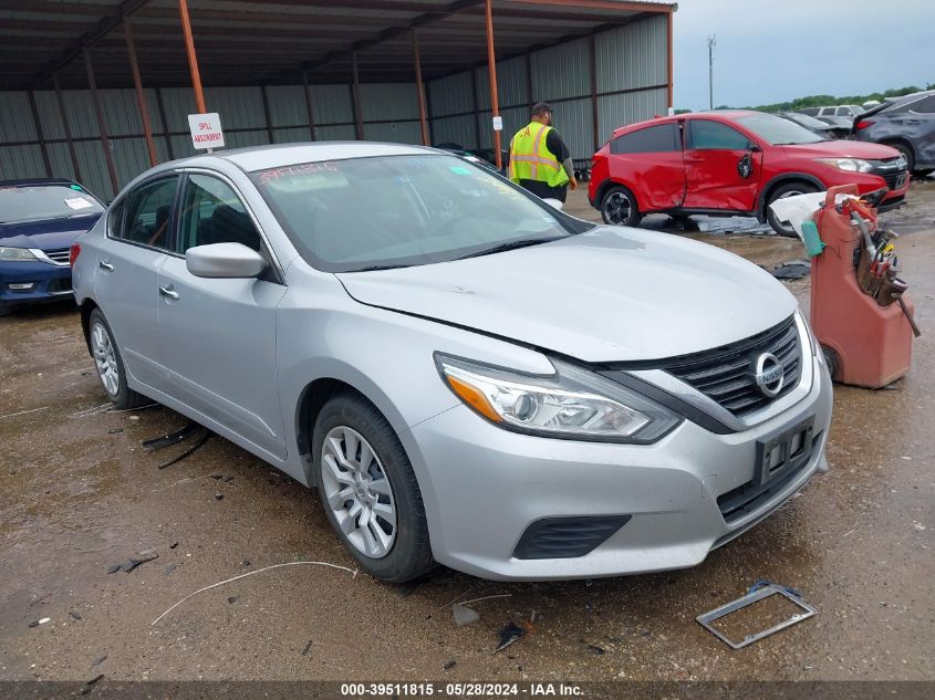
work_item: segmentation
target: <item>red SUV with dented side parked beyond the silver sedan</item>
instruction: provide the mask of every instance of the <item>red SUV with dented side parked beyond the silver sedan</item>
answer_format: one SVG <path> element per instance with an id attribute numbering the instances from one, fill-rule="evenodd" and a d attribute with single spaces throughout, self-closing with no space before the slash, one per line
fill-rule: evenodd
<path id="1" fill-rule="evenodd" d="M 588 197 L 605 223 L 638 226 L 643 215 L 748 216 L 796 236 L 767 205 L 782 197 L 855 184 L 889 187 L 881 211 L 908 189 L 895 148 L 824 140 L 762 112 L 725 111 L 658 117 L 616 129 L 591 166 Z"/>

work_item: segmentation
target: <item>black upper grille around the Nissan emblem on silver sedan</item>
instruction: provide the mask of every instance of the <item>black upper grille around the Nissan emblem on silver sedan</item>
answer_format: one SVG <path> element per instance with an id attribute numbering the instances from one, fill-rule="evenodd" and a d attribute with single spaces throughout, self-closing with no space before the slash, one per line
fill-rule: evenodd
<path id="1" fill-rule="evenodd" d="M 772 353 L 782 364 L 782 389 L 773 397 L 766 396 L 754 378 L 757 358 L 762 353 Z M 796 387 L 802 370 L 801 359 L 799 333 L 794 318 L 789 318 L 745 341 L 676 358 L 664 369 L 735 416 L 746 416 Z"/>

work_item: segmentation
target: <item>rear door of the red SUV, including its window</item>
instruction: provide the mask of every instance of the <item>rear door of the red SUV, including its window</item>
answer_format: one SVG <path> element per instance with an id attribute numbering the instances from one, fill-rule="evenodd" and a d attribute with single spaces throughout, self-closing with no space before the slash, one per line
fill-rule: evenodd
<path id="1" fill-rule="evenodd" d="M 678 122 L 654 124 L 611 140 L 611 179 L 626 185 L 640 211 L 674 209 L 685 197 Z"/>

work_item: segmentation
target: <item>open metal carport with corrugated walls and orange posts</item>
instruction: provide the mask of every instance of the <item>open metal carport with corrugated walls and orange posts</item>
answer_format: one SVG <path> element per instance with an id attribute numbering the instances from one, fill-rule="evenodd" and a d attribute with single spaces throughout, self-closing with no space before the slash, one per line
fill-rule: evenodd
<path id="1" fill-rule="evenodd" d="M 3 0 L 0 179 L 71 175 L 112 195 L 150 163 L 193 153 L 185 117 L 202 111 L 221 114 L 231 146 L 371 138 L 490 147 L 490 116 L 501 113 L 511 133 L 532 102 L 548 100 L 573 155 L 586 158 L 614 126 L 672 106 L 676 9 Z"/>

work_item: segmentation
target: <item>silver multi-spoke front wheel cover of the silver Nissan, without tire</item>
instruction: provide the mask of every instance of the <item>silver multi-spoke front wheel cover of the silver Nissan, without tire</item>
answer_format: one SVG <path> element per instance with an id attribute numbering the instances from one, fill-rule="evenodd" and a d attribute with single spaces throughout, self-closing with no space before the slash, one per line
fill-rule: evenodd
<path id="1" fill-rule="evenodd" d="M 337 526 L 359 552 L 383 558 L 396 540 L 396 501 L 373 447 L 356 430 L 332 428 L 324 438 L 321 477 Z"/>

